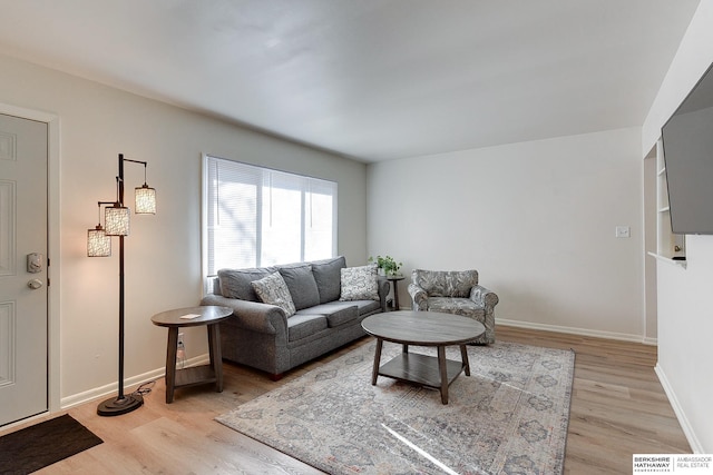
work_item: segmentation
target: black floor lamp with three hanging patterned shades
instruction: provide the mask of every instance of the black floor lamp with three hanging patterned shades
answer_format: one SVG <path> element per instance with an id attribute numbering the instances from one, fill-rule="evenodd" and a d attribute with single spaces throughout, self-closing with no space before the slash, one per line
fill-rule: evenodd
<path id="1" fill-rule="evenodd" d="M 156 190 L 146 185 L 146 161 L 125 159 L 119 154 L 119 175 L 116 177 L 117 199 L 116 201 L 98 201 L 99 224 L 87 232 L 87 256 L 109 257 L 111 256 L 111 236 L 119 237 L 119 390 L 117 397 L 104 400 L 97 407 L 100 416 L 118 416 L 130 413 L 144 404 L 140 394 L 124 394 L 124 238 L 129 235 L 129 224 L 131 210 L 124 206 L 124 164 L 144 165 L 144 186 L 136 188 L 137 215 L 156 214 Z M 104 224 L 101 227 L 101 207 L 105 206 Z"/>

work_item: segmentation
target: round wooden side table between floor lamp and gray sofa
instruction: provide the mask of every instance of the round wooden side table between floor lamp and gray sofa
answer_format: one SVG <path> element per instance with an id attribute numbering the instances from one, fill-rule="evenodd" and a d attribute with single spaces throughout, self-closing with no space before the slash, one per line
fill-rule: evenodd
<path id="1" fill-rule="evenodd" d="M 221 355 L 221 329 L 218 324 L 229 317 L 229 307 L 203 306 L 178 308 L 162 311 L 152 317 L 154 325 L 168 328 L 168 346 L 166 348 L 166 404 L 174 400 L 177 387 L 215 383 L 215 390 L 223 392 L 223 356 Z M 194 318 L 180 318 L 197 315 Z M 178 346 L 178 328 L 207 326 L 211 364 L 176 369 L 176 350 Z"/>

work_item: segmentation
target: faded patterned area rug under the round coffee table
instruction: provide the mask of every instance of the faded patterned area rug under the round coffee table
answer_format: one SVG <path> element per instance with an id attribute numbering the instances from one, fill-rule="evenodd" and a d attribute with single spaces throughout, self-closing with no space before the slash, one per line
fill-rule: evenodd
<path id="1" fill-rule="evenodd" d="M 574 352 L 468 346 L 470 374 L 440 393 L 380 376 L 375 340 L 216 419 L 330 474 L 559 474 Z M 411 353 L 436 355 L 432 348 Z M 382 364 L 401 350 L 384 342 Z M 458 347 L 447 348 L 459 360 Z"/>

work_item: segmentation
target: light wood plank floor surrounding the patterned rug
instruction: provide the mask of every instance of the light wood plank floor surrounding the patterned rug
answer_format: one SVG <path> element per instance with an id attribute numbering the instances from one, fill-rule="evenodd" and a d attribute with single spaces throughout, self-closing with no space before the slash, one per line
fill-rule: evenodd
<path id="1" fill-rule="evenodd" d="M 632 454 L 691 452 L 654 373 L 655 347 L 512 327 L 497 331 L 501 340 L 576 352 L 565 473 L 631 473 Z M 68 413 L 105 443 L 37 473 L 321 473 L 213 418 L 369 338 L 290 372 L 277 383 L 260 372 L 225 364 L 225 390 L 219 394 L 209 386 L 178 389 L 174 403 L 166 405 L 162 379 L 145 397 L 144 407 L 130 414 L 99 417 L 97 403 L 75 407 Z"/>

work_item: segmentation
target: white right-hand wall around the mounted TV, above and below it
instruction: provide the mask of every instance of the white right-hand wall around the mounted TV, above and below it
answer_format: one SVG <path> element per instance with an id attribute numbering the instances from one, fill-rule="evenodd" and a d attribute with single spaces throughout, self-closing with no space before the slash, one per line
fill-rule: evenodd
<path id="1" fill-rule="evenodd" d="M 643 127 L 644 154 L 713 62 L 713 2 L 701 2 Z M 713 452 L 713 236 L 686 236 L 685 269 L 658 263 L 658 365 L 693 449 Z"/>

